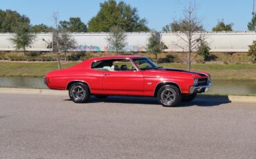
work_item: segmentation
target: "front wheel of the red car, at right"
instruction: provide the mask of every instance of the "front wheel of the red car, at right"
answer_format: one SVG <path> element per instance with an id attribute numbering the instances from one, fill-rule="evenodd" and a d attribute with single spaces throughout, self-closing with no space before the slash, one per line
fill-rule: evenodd
<path id="1" fill-rule="evenodd" d="M 177 86 L 164 85 L 159 88 L 157 99 L 158 102 L 163 106 L 178 106 L 178 104 L 181 102 L 181 91 Z"/>

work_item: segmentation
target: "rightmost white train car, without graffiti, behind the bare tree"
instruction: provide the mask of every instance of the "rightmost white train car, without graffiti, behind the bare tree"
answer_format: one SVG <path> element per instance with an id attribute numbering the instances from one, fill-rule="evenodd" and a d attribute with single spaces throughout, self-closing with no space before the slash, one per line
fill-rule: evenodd
<path id="1" fill-rule="evenodd" d="M 248 46 L 256 40 L 256 32 L 204 32 L 203 36 L 211 52 L 248 52 Z M 186 51 L 185 35 L 179 32 L 163 32 L 161 41 L 167 52 Z"/>

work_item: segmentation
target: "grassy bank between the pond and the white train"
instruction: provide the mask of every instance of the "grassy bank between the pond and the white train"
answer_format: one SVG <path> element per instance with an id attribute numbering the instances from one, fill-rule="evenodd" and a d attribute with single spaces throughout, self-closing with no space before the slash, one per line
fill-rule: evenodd
<path id="1" fill-rule="evenodd" d="M 62 64 L 68 68 L 78 62 Z M 159 64 L 168 68 L 187 69 L 187 64 Z M 0 77 L 44 77 L 49 71 L 57 70 L 57 62 L 0 62 Z M 216 80 L 256 80 L 256 64 L 192 64 L 192 71 L 207 72 Z"/>

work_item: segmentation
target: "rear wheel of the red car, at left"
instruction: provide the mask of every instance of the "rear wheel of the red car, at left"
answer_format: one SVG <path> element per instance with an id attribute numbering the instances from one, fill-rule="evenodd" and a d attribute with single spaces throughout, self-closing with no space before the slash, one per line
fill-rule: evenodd
<path id="1" fill-rule="evenodd" d="M 71 84 L 68 94 L 71 100 L 75 103 L 87 102 L 91 96 L 89 87 L 81 82 Z"/>

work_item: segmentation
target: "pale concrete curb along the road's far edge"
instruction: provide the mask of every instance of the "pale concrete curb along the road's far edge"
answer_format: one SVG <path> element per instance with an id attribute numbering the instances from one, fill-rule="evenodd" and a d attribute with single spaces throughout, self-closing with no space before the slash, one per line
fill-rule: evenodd
<path id="1" fill-rule="evenodd" d="M 0 88 L 0 94 L 32 94 L 32 95 L 68 95 L 68 91 L 35 88 Z M 256 103 L 256 96 L 242 95 L 198 95 L 196 100 L 217 102 L 250 102 Z"/>

